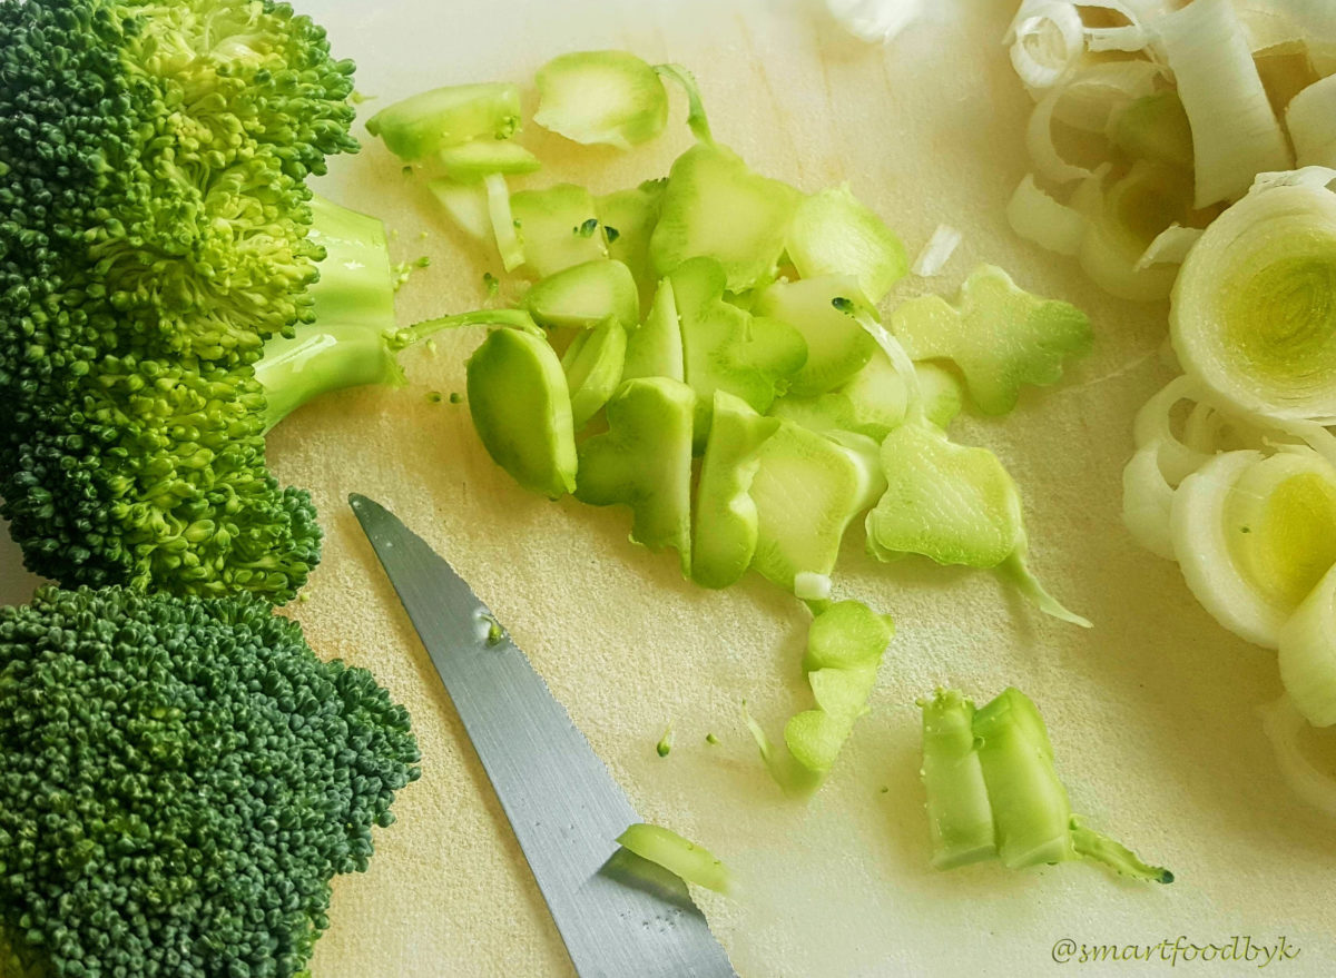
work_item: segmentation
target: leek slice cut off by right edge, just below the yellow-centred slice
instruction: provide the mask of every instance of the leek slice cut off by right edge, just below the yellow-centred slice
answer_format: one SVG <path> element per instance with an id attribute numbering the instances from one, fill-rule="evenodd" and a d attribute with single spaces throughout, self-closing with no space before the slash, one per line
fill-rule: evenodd
<path id="1" fill-rule="evenodd" d="M 1280 629 L 1280 679 L 1315 727 L 1336 724 L 1336 564 Z"/>

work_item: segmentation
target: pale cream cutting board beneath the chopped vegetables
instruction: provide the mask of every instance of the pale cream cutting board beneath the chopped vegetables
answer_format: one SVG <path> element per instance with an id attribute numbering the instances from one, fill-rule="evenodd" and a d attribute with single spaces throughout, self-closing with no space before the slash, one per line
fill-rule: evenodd
<path id="1" fill-rule="evenodd" d="M 425 755 L 398 823 L 378 832 L 371 870 L 335 883 L 317 978 L 570 974 L 458 719 L 343 502 L 350 490 L 397 510 L 474 585 L 645 819 L 733 867 L 740 896 L 700 898 L 743 978 L 1168 971 L 1160 942 L 1234 935 L 1240 953 L 1242 938 L 1285 938 L 1299 955 L 1271 967 L 1287 975 L 1336 974 L 1336 832 L 1292 798 L 1255 712 L 1280 693 L 1273 656 L 1220 629 L 1177 568 L 1140 550 L 1120 521 L 1132 416 L 1172 375 L 1165 306 L 1102 294 L 1006 226 L 1007 195 L 1027 170 L 1030 106 L 999 43 L 1013 3 L 929 0 L 888 47 L 843 36 L 800 0 L 299 5 L 357 60 L 358 88 L 375 96 L 363 116 L 434 86 L 528 83 L 570 49 L 680 61 L 700 80 L 716 138 L 762 172 L 807 191 L 847 180 L 911 254 L 938 223 L 963 232 L 939 277 L 906 279 L 888 305 L 953 293 L 989 261 L 1088 310 L 1097 335 L 1061 386 L 1027 393 L 1011 417 L 955 429 L 1010 468 L 1034 568 L 1096 627 L 1045 619 L 986 573 L 879 565 L 852 532 L 836 593 L 892 613 L 899 635 L 870 715 L 806 804 L 770 782 L 740 712 L 745 699 L 778 734 L 810 705 L 806 612 L 758 579 L 696 589 L 672 556 L 628 542 L 625 512 L 548 502 L 500 473 L 466 406 L 426 397 L 462 391 L 481 333 L 442 337 L 434 355 L 410 351 L 403 389 L 330 395 L 285 421 L 270 437 L 273 468 L 311 489 L 327 532 L 310 600 L 290 613 L 322 655 L 365 665 L 407 704 Z M 684 114 L 673 92 L 668 134 L 628 154 L 529 127 L 524 142 L 548 166 L 526 186 L 569 179 L 607 192 L 660 176 L 688 146 Z M 383 148 L 337 160 L 319 190 L 382 216 L 397 259 L 430 257 L 399 294 L 402 322 L 482 303 L 496 259 L 452 231 Z M 4 549 L 9 601 L 31 589 L 16 568 Z M 933 871 L 914 700 L 942 683 L 979 700 L 1007 684 L 1029 692 L 1075 810 L 1178 882 L 1133 884 L 1085 864 Z M 660 758 L 669 725 L 675 747 Z M 1149 946 L 1152 961 L 1082 965 L 1079 945 Z M 1178 969 L 1244 974 L 1259 961 Z"/>

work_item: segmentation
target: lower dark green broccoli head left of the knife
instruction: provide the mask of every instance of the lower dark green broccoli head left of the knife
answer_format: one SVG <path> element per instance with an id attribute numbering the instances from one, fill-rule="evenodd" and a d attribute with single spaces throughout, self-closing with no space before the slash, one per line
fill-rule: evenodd
<path id="1" fill-rule="evenodd" d="M 0 973 L 43 978 L 302 973 L 420 776 L 403 707 L 266 601 L 123 588 L 0 609 Z"/>

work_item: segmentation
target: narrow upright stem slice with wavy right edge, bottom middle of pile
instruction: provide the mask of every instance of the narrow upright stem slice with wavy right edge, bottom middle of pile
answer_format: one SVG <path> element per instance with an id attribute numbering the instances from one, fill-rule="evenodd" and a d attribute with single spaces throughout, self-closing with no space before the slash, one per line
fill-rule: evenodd
<path id="1" fill-rule="evenodd" d="M 716 390 L 709 441 L 696 486 L 691 577 L 704 588 L 727 588 L 756 552 L 759 516 L 749 489 L 760 468 L 758 449 L 779 428 L 741 398 Z"/>

